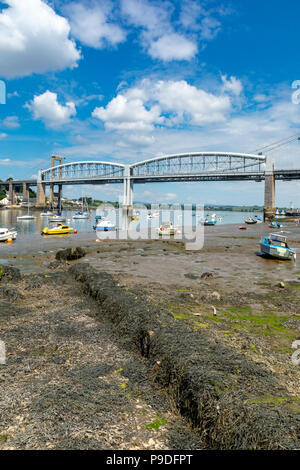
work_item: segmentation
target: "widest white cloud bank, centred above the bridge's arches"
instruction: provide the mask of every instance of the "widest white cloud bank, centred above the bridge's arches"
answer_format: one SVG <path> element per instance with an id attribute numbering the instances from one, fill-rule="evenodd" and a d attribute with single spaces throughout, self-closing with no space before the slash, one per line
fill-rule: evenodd
<path id="1" fill-rule="evenodd" d="M 235 77 L 231 78 L 229 84 L 235 84 Z M 224 86 L 213 94 L 185 80 L 145 79 L 139 86 L 121 91 L 106 107 L 96 108 L 93 117 L 102 120 L 106 129 L 122 131 L 151 131 L 157 125 L 204 126 L 227 119 L 233 109 L 230 95 Z"/>

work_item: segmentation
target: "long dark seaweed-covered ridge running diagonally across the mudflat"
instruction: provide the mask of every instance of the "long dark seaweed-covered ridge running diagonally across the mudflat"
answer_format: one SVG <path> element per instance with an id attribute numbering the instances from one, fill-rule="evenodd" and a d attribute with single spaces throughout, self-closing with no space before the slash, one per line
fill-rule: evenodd
<path id="1" fill-rule="evenodd" d="M 263 363 L 214 332 L 187 328 L 88 264 L 69 272 L 97 300 L 99 318 L 106 317 L 122 341 L 127 338 L 130 348 L 148 358 L 154 380 L 210 449 L 300 449 L 298 402 Z"/>

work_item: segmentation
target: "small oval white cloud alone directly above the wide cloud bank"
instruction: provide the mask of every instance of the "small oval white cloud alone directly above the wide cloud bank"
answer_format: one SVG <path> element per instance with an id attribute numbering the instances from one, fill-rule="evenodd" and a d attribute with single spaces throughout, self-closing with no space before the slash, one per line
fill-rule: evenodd
<path id="1" fill-rule="evenodd" d="M 154 59 L 164 61 L 190 60 L 197 53 L 197 44 L 177 34 L 166 34 L 156 41 L 150 42 L 149 54 Z"/>

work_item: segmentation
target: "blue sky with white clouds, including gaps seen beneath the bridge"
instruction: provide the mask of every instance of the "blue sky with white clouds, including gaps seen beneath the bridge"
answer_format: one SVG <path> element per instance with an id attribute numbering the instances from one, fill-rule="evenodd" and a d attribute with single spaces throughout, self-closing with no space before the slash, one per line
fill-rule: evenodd
<path id="1" fill-rule="evenodd" d="M 0 2 L 0 178 L 32 177 L 52 153 L 129 163 L 252 152 L 297 133 L 299 18 L 295 0 Z M 299 168 L 300 142 L 273 155 Z M 116 200 L 122 188 L 84 192 Z M 299 183 L 276 196 L 300 206 Z M 147 184 L 135 198 L 262 204 L 263 184 Z"/>

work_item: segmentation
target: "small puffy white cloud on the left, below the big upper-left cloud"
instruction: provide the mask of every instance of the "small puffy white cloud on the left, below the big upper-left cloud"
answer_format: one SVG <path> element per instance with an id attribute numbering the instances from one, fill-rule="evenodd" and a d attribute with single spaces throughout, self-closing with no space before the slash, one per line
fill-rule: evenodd
<path id="1" fill-rule="evenodd" d="M 59 104 L 57 94 L 49 90 L 42 95 L 35 95 L 26 107 L 32 112 L 34 119 L 41 119 L 47 127 L 51 128 L 68 124 L 70 118 L 76 115 L 73 102 L 68 102 L 65 106 Z"/>

